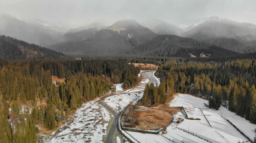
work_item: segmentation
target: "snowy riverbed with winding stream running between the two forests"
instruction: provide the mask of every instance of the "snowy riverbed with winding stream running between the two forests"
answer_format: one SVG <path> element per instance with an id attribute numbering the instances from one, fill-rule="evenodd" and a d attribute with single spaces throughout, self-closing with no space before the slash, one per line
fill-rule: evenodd
<path id="1" fill-rule="evenodd" d="M 114 95 L 86 102 L 71 117 L 71 122 L 52 133 L 47 142 L 127 142 L 117 132 L 118 112 L 130 102 L 143 97 L 147 83 L 159 84 L 154 73 L 155 71 L 141 71 L 141 82 L 134 88 L 124 91 L 122 83 L 117 84 Z"/>

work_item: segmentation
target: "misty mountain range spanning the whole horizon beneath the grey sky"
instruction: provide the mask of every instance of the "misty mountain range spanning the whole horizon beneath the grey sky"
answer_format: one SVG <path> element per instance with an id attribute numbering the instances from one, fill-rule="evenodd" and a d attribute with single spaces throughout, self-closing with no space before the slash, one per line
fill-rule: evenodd
<path id="1" fill-rule="evenodd" d="M 167 57 L 222 57 L 256 52 L 256 26 L 209 17 L 180 29 L 165 21 L 118 20 L 110 26 L 92 23 L 60 32 L 47 24 L 0 16 L 0 34 L 64 54 L 137 54 Z"/>

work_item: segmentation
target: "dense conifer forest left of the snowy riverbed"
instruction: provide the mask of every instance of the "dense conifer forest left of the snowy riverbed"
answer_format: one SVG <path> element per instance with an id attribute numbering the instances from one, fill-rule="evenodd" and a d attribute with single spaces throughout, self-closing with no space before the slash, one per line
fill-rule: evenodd
<path id="1" fill-rule="evenodd" d="M 0 68 L 0 142 L 36 142 L 38 126 L 55 129 L 113 83 L 134 86 L 140 72 L 125 60 L 1 60 Z M 53 75 L 66 80 L 55 85 Z"/>

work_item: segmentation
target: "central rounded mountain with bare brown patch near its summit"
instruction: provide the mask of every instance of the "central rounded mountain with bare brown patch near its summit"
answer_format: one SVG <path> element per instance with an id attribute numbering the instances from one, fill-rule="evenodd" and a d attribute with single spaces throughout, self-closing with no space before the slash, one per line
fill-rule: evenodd
<path id="1" fill-rule="evenodd" d="M 135 20 L 119 20 L 107 29 L 98 32 L 95 29 L 85 29 L 75 33 L 76 35 L 81 33 L 84 37 L 89 34 L 84 39 L 80 37 L 77 41 L 62 42 L 49 46 L 49 48 L 67 54 L 106 55 L 129 51 L 134 46 L 150 41 L 157 36 Z M 91 38 L 89 38 L 90 36 Z"/>

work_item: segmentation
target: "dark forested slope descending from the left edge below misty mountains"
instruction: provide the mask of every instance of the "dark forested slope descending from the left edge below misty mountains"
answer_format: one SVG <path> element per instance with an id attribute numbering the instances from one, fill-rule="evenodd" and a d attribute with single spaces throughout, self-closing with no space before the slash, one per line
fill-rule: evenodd
<path id="1" fill-rule="evenodd" d="M 0 58 L 5 60 L 44 60 L 64 57 L 60 52 L 0 35 Z"/>

